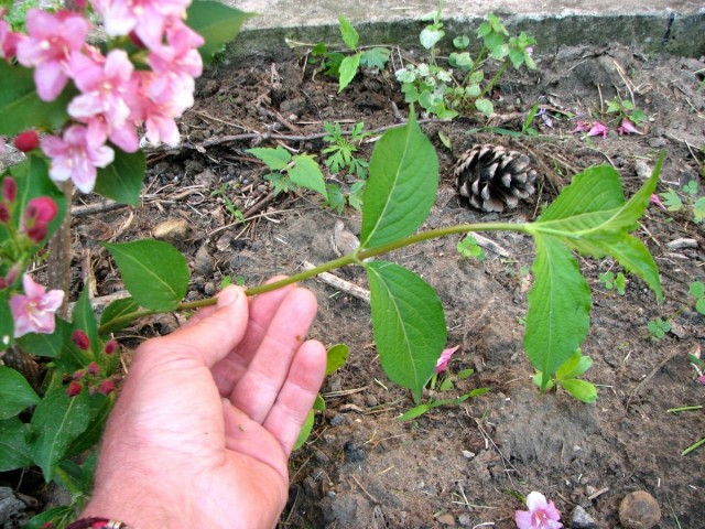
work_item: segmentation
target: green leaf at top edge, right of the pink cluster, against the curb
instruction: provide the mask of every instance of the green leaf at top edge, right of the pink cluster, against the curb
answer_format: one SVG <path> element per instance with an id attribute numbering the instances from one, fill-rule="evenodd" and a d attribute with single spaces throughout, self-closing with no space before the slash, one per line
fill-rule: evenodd
<path id="1" fill-rule="evenodd" d="M 206 43 L 198 50 L 204 63 L 225 50 L 240 31 L 242 23 L 254 13 L 246 13 L 216 1 L 196 0 L 186 11 L 188 26 L 200 34 Z"/>

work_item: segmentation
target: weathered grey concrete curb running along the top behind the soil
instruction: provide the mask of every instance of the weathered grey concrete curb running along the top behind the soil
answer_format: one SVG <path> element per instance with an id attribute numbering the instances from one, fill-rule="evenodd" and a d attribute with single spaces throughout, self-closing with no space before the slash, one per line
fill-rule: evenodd
<path id="1" fill-rule="evenodd" d="M 421 18 L 435 2 L 414 4 L 378 0 L 372 8 L 364 0 L 225 0 L 238 9 L 259 13 L 248 21 L 228 56 L 273 54 L 288 40 L 303 43 L 341 44 L 338 15 L 345 15 L 360 33 L 360 44 L 420 47 Z M 699 1 L 586 0 L 582 8 L 565 0 L 447 0 L 443 9 L 446 41 L 474 35 L 488 12 L 499 15 L 510 32 L 525 31 L 539 45 L 538 53 L 553 53 L 565 45 L 601 45 L 611 42 L 644 53 L 668 52 L 699 57 L 705 54 L 705 6 Z M 481 4 L 481 6 L 480 6 Z M 449 39 L 448 39 L 449 36 Z"/>

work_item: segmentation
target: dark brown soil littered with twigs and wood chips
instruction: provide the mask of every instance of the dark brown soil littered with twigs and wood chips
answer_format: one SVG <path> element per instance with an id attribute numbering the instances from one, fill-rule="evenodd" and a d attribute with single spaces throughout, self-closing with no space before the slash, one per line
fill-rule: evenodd
<path id="1" fill-rule="evenodd" d="M 489 125 L 519 130 L 536 101 L 598 115 L 600 96 L 611 99 L 619 93 L 625 98 L 633 94 L 637 107 L 649 116 L 641 127 L 644 134 L 619 137 L 612 122 L 608 138 L 583 139 L 568 133 L 575 123 L 560 114 L 553 128 L 539 123 L 545 134 L 541 138 L 468 133 L 488 123 L 467 118 L 425 123 L 438 152 L 441 182 L 424 228 L 532 219 L 571 175 L 597 163 L 611 163 L 630 194 L 642 181 L 638 163 L 652 165 L 662 149 L 668 155 L 659 191 L 691 180 L 705 186 L 698 176 L 705 90 L 695 74 L 699 71 L 702 79 L 702 60 L 647 57 L 610 46 L 561 50 L 539 57 L 538 65 L 538 73 L 507 76 L 495 101 L 500 117 Z M 118 292 L 120 280 L 95 240 L 149 237 L 164 228 L 158 227 L 161 223 L 176 219 L 188 228 L 171 237 L 193 264 L 189 299 L 212 295 L 225 276 L 254 285 L 275 273 L 300 271 L 304 260 L 334 258 L 329 240 L 339 217 L 322 208 L 313 194 L 272 196 L 265 169 L 245 152 L 284 144 L 319 154 L 322 141 L 231 137 L 268 131 L 310 137 L 323 131 L 323 121 L 341 121 L 344 128 L 365 121 L 367 130 L 377 129 L 395 122 L 392 102 L 405 116 L 391 71 L 358 75 L 337 94 L 334 79 L 314 76 L 310 65 L 304 69 L 289 52 L 207 73 L 198 84 L 196 107 L 182 120 L 184 147 L 148 156 L 144 206 L 75 219 L 76 269 L 88 252 L 96 295 Z M 440 141 L 440 132 L 451 139 L 453 152 Z M 503 214 L 469 209 L 453 188 L 452 169 L 455 155 L 479 142 L 528 153 L 540 174 L 539 193 Z M 369 158 L 372 145 L 362 145 L 361 155 Z M 236 223 L 223 197 L 213 195 L 221 184 L 247 223 Z M 359 229 L 356 210 L 346 209 L 343 218 L 352 231 Z M 463 259 L 455 248 L 459 238 L 436 239 L 390 257 L 421 274 L 443 301 L 448 345 L 460 345 L 451 370 L 476 369 L 458 382 L 458 390 L 491 388 L 482 397 L 403 423 L 397 418 L 413 401 L 379 366 L 368 304 L 319 280 L 307 281 L 321 306 L 312 336 L 327 345 L 346 343 L 351 353 L 348 364 L 326 380 L 322 391 L 328 409 L 293 456 L 291 501 L 281 527 L 511 528 L 513 512 L 521 508 L 511 490 L 544 493 L 555 500 L 566 527 L 576 506 L 597 527 L 621 527 L 620 501 L 634 490 L 646 490 L 659 503 L 662 519 L 655 527 L 705 527 L 705 446 L 681 456 L 705 435 L 705 413 L 666 412 L 705 403 L 705 386 L 695 380 L 686 358 L 705 346 L 705 320 L 694 312 L 687 293 L 691 281 L 705 280 L 705 234 L 692 215 L 651 206 L 638 235 L 660 267 L 666 296 L 662 304 L 633 277 L 628 277 L 623 296 L 607 291 L 598 274 L 620 269 L 609 260 L 581 260 L 594 288 L 593 326 L 583 352 L 594 359 L 585 378 L 598 385 L 596 404 L 563 391 L 541 396 L 531 381 L 521 325 L 531 284 L 524 268 L 533 257 L 529 237 L 489 234 L 510 257 L 488 251 L 484 262 Z M 671 249 L 669 242 L 679 238 L 694 239 L 695 247 Z M 367 287 L 359 269 L 336 273 Z M 76 290 L 87 277 L 78 276 Z M 655 317 L 672 323 L 672 332 L 659 341 L 647 331 Z M 176 324 L 174 316 L 160 316 L 124 334 L 134 341 Z"/>

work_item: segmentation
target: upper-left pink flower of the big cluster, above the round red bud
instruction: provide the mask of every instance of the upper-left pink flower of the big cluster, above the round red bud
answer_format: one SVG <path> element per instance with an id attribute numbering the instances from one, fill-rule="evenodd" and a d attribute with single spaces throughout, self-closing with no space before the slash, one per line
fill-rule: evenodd
<path id="1" fill-rule="evenodd" d="M 22 66 L 34 67 L 34 84 L 41 99 L 56 99 L 66 86 L 68 57 L 83 47 L 88 28 L 83 15 L 70 11 L 56 14 L 39 9 L 29 11 L 29 37 L 17 44 L 17 55 Z"/>

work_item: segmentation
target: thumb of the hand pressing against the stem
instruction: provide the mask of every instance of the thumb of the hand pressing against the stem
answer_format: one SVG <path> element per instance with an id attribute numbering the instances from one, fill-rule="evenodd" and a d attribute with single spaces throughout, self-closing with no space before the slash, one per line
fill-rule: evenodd
<path id="1" fill-rule="evenodd" d="M 215 310 L 192 325 L 152 341 L 151 349 L 169 352 L 172 357 L 196 357 L 210 367 L 223 359 L 242 339 L 248 322 L 248 302 L 242 289 L 227 287 Z"/>

